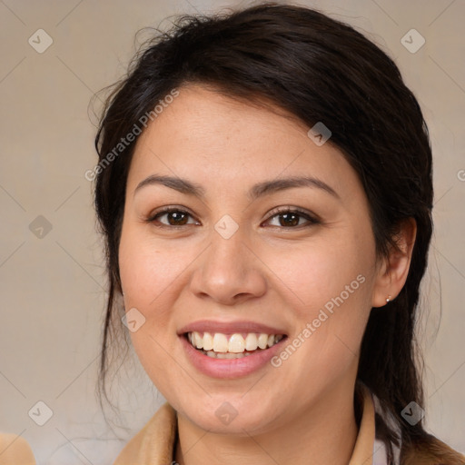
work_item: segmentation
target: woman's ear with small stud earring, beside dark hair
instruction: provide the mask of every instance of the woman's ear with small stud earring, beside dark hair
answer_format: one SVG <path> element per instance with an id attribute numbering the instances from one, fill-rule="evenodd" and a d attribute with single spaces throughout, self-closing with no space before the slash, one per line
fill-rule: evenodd
<path id="1" fill-rule="evenodd" d="M 402 220 L 399 232 L 394 236 L 397 248 L 391 247 L 388 257 L 383 257 L 378 265 L 378 272 L 371 297 L 372 307 L 386 305 L 386 299 L 393 301 L 401 292 L 407 281 L 411 266 L 411 252 L 417 236 L 417 223 L 413 218 Z"/>

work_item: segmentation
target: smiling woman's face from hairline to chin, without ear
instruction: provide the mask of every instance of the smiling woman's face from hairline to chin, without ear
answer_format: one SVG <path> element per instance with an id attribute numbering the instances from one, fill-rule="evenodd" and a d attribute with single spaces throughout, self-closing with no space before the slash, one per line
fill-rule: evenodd
<path id="1" fill-rule="evenodd" d="M 356 173 L 308 130 L 196 85 L 137 142 L 119 249 L 131 336 L 204 430 L 266 431 L 353 394 L 380 266 Z"/>

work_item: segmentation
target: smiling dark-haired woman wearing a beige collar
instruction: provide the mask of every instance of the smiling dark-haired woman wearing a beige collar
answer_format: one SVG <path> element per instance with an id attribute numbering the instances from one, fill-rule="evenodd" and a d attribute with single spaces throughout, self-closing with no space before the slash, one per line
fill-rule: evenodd
<path id="1" fill-rule="evenodd" d="M 465 463 L 423 429 L 430 143 L 376 45 L 297 6 L 185 17 L 95 142 L 102 389 L 123 319 L 167 400 L 116 465 Z"/>

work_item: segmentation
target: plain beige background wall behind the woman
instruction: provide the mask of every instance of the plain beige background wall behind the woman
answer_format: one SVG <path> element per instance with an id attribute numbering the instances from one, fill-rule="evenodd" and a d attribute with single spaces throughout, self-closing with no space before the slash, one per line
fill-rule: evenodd
<path id="1" fill-rule="evenodd" d="M 109 426 L 94 397 L 104 266 L 84 178 L 96 159 L 87 107 L 124 73 L 138 29 L 225 5 L 247 2 L 0 0 L 0 430 L 29 440 L 38 463 L 110 463 L 163 401 L 131 365 L 115 385 L 122 411 L 108 412 Z M 465 2 L 301 5 L 354 25 L 391 54 L 430 125 L 436 229 L 421 320 L 427 424 L 465 452 Z M 43 54 L 28 44 L 39 28 L 54 41 Z M 426 39 L 415 54 L 401 44 L 411 28 Z M 29 228 L 39 215 L 52 226 L 42 238 Z M 53 411 L 42 427 L 28 416 L 37 401 Z"/>

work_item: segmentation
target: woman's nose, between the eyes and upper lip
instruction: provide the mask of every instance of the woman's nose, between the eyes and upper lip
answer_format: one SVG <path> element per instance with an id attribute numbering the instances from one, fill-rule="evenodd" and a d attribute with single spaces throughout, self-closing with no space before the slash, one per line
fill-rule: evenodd
<path id="1" fill-rule="evenodd" d="M 240 230 L 229 239 L 213 231 L 210 246 L 196 263 L 190 287 L 203 300 L 235 305 L 266 292 L 264 265 Z"/>

